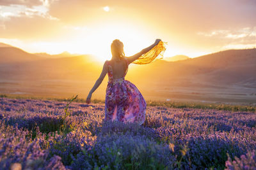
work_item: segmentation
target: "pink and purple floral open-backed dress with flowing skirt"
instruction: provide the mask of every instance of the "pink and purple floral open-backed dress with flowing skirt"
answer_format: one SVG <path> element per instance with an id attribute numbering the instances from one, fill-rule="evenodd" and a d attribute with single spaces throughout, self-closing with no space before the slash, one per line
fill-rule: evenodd
<path id="1" fill-rule="evenodd" d="M 113 70 L 108 64 L 108 87 L 106 89 L 105 120 L 118 120 L 121 122 L 145 121 L 146 101 L 137 87 L 130 81 L 122 78 L 113 79 Z M 129 62 L 126 60 L 127 69 Z"/>

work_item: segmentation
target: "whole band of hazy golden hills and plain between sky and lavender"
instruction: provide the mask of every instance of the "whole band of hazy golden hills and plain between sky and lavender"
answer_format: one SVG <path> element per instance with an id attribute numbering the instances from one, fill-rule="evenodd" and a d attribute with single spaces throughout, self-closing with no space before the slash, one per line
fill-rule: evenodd
<path id="1" fill-rule="evenodd" d="M 0 47 L 0 93 L 21 91 L 66 97 L 76 92 L 84 96 L 102 71 L 103 62 L 93 61 L 92 55 L 62 53 L 60 56 L 65 57 L 56 58 L 44 55 L 26 53 L 12 46 Z M 146 99 L 252 102 L 256 101 L 255 73 L 254 48 L 175 62 L 130 64 L 125 79 L 131 80 Z M 107 81 L 105 78 L 94 94 L 96 98 L 104 99 Z"/>

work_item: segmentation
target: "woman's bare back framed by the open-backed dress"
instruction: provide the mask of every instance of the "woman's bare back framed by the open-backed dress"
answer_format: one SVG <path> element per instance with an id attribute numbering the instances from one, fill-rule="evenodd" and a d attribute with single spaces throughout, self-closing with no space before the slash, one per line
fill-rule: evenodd
<path id="1" fill-rule="evenodd" d="M 125 59 L 120 61 L 109 60 L 109 65 L 112 68 L 113 79 L 123 78 L 128 69 L 128 62 Z"/>

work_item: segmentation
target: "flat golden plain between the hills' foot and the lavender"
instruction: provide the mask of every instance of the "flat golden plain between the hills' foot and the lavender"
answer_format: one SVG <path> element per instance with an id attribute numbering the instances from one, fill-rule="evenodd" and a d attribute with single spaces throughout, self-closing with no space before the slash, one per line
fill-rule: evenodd
<path id="1" fill-rule="evenodd" d="M 146 100 L 154 101 L 200 101 L 205 103 L 251 104 L 256 105 L 256 92 L 253 88 L 218 85 L 168 86 L 131 81 L 138 87 Z M 70 97 L 78 94 L 86 97 L 94 81 L 37 80 L 0 81 L 0 93 L 35 97 Z M 104 99 L 107 81 L 104 80 L 92 98 Z"/>

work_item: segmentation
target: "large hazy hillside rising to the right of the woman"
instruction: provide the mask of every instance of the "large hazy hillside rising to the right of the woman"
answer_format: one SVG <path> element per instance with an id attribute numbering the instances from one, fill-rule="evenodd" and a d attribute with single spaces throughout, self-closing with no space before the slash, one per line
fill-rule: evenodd
<path id="1" fill-rule="evenodd" d="M 136 74 L 140 80 L 151 75 L 156 76 L 157 80 L 170 82 L 179 80 L 180 83 L 182 80 L 189 80 L 191 82 L 226 85 L 255 78 L 255 73 L 255 48 L 227 50 L 177 62 L 159 60 L 159 62 L 136 68 Z M 177 81 L 172 83 L 177 83 Z"/>

